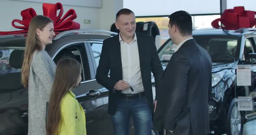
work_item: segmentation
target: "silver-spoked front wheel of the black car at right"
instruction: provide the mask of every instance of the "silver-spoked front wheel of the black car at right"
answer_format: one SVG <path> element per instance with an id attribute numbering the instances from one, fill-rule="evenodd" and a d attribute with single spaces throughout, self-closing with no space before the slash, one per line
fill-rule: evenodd
<path id="1" fill-rule="evenodd" d="M 230 103 L 227 122 L 226 133 L 227 135 L 242 135 L 243 124 L 245 123 L 244 112 L 239 111 L 236 106 L 236 98 Z"/>

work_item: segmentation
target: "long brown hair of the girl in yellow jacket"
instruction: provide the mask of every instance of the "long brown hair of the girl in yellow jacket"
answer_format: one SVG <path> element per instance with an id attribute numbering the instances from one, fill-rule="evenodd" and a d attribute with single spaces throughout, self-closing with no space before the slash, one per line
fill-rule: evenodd
<path id="1" fill-rule="evenodd" d="M 72 58 L 60 60 L 56 67 L 52 94 L 49 101 L 47 135 L 58 135 L 61 122 L 62 98 L 77 84 L 81 64 Z"/>

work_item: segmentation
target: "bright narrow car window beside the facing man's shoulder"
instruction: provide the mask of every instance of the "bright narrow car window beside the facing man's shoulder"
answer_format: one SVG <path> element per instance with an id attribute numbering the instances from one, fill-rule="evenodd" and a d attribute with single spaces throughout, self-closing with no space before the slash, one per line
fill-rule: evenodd
<path id="1" fill-rule="evenodd" d="M 98 67 L 98 62 L 99 62 L 99 58 L 100 58 L 100 55 L 102 53 L 102 42 L 91 42 L 91 47 L 92 47 L 92 52 L 93 52 L 93 56 L 95 58 L 95 62 L 96 62 L 96 65 Z"/>

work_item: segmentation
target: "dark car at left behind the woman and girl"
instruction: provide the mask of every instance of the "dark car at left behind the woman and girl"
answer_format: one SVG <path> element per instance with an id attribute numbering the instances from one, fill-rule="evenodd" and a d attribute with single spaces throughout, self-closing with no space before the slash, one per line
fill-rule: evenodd
<path id="1" fill-rule="evenodd" d="M 86 116 L 87 135 L 113 135 L 108 115 L 108 90 L 95 80 L 104 39 L 116 35 L 102 30 L 61 32 L 46 46 L 57 62 L 62 57 L 74 58 L 82 64 L 82 82 L 73 90 Z M 28 89 L 21 84 L 21 65 L 26 33 L 0 36 L 0 61 L 8 58 L 10 68 L 0 70 L 0 135 L 25 135 L 28 129 Z M 4 71 L 2 70 L 4 69 Z M 134 126 L 131 122 L 131 135 Z M 158 135 L 152 130 L 153 135 Z"/>

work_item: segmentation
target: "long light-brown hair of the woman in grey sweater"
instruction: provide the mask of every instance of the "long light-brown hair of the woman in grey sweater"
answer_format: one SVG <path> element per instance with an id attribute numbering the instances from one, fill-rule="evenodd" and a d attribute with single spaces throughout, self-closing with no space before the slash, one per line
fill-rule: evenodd
<path id="1" fill-rule="evenodd" d="M 40 29 L 42 31 L 45 28 L 45 26 L 51 22 L 53 23 L 53 20 L 42 15 L 35 16 L 30 22 L 28 34 L 26 37 L 24 60 L 21 68 L 21 82 L 24 87 L 28 87 L 30 64 L 32 61 L 33 53 L 36 50 L 42 50 L 42 44 L 39 41 L 39 38 L 36 34 L 36 29 Z"/>

